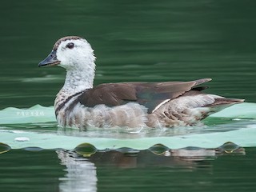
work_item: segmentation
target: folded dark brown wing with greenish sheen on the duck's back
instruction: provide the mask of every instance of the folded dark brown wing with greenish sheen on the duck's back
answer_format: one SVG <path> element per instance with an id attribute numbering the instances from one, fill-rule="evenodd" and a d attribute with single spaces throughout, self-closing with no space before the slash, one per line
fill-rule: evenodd
<path id="1" fill-rule="evenodd" d="M 88 107 L 99 104 L 106 106 L 119 106 L 127 102 L 138 102 L 146 106 L 148 113 L 162 102 L 178 98 L 189 90 L 203 90 L 206 87 L 194 87 L 204 82 L 209 82 L 210 78 L 203 78 L 191 82 L 120 82 L 105 83 L 95 86 L 82 93 L 78 100 Z"/>

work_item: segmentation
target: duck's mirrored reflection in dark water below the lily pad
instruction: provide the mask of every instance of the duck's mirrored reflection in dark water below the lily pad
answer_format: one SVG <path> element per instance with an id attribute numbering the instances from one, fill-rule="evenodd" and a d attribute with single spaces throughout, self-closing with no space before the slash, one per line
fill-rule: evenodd
<path id="1" fill-rule="evenodd" d="M 82 150 L 86 146 L 86 150 Z M 91 149 L 88 150 L 88 149 Z M 211 171 L 212 160 L 222 154 L 245 154 L 242 147 L 227 142 L 216 149 L 186 147 L 179 150 L 165 149 L 161 144 L 148 150 L 121 148 L 118 150 L 95 150 L 85 143 L 75 150 L 57 150 L 66 175 L 60 178 L 60 191 L 97 191 L 98 174 L 102 169 L 145 169 L 147 167 L 179 168 L 182 171 L 196 169 Z M 76 151 L 77 150 L 77 151 Z M 98 173 L 97 173 L 98 169 Z"/>

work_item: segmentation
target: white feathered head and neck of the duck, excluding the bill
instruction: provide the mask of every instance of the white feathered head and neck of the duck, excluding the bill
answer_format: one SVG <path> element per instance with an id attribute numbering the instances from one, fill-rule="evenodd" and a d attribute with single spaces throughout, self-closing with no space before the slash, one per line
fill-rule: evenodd
<path id="1" fill-rule="evenodd" d="M 69 47 L 69 45 L 74 47 Z M 66 69 L 62 91 L 75 94 L 93 87 L 95 74 L 94 50 L 84 38 L 63 38 L 55 43 L 59 66 Z"/>

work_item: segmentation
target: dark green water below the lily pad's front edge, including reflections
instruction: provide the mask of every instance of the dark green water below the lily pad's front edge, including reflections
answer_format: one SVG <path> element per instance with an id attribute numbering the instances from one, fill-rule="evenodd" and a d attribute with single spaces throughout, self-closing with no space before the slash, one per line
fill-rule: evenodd
<path id="1" fill-rule="evenodd" d="M 89 161 L 74 161 L 67 151 L 11 150 L 0 156 L 0 186 L 3 191 L 47 192 L 255 191 L 255 152 L 250 148 L 246 155 L 190 159 L 144 150 L 134 155 L 98 153 Z"/>

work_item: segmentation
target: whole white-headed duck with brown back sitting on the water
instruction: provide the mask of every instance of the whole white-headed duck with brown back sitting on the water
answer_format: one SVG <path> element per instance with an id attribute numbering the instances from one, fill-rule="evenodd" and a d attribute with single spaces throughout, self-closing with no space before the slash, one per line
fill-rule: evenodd
<path id="1" fill-rule="evenodd" d="M 238 104 L 244 99 L 224 98 L 204 93 L 203 83 L 114 82 L 94 86 L 94 50 L 85 38 L 67 36 L 55 42 L 39 67 L 61 66 L 66 80 L 59 90 L 54 110 L 59 126 L 166 127 L 198 126 L 210 114 Z"/>

